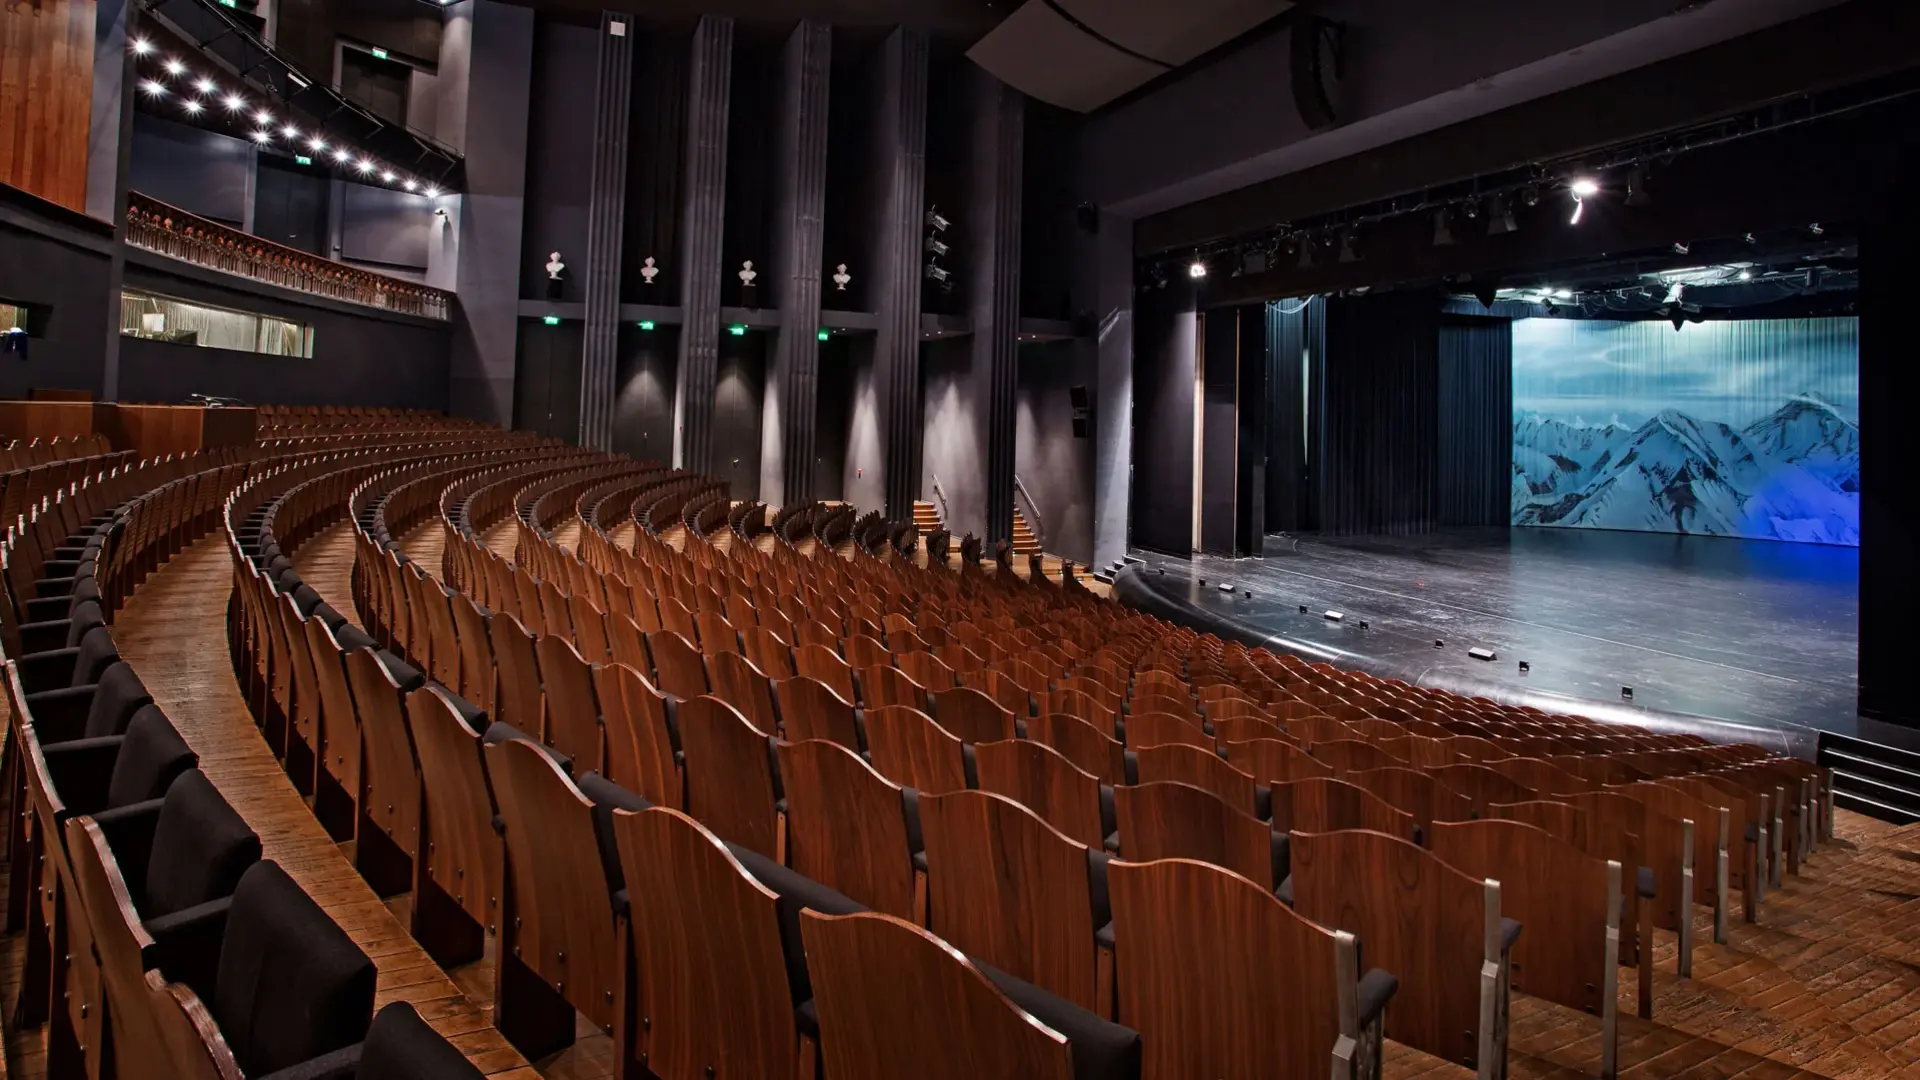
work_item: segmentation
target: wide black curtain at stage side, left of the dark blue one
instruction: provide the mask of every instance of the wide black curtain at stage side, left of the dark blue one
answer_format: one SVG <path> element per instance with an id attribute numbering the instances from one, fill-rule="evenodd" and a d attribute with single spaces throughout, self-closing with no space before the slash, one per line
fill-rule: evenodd
<path id="1" fill-rule="evenodd" d="M 1428 290 L 1327 302 L 1319 386 L 1319 528 L 1434 528 L 1440 502 L 1440 298 Z M 1313 390 L 1309 388 L 1309 394 Z"/>

